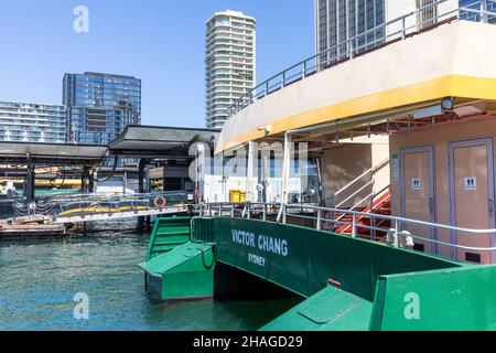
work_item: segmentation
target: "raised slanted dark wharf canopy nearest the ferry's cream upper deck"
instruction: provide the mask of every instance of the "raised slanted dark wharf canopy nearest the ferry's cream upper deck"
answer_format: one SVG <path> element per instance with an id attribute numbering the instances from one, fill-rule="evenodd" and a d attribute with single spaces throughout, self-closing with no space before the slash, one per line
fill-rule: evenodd
<path id="1" fill-rule="evenodd" d="M 110 156 L 122 158 L 169 159 L 188 158 L 190 147 L 204 142 L 213 150 L 218 130 L 128 126 L 122 135 L 110 142 Z"/>

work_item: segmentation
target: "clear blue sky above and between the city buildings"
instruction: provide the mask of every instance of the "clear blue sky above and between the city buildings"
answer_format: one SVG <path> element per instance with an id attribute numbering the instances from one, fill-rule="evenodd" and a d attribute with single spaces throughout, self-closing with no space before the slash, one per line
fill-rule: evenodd
<path id="1" fill-rule="evenodd" d="M 226 9 L 257 18 L 258 79 L 313 54 L 312 0 L 3 0 L 0 100 L 61 104 L 64 73 L 108 72 L 142 79 L 143 124 L 204 127 L 204 23 Z"/>

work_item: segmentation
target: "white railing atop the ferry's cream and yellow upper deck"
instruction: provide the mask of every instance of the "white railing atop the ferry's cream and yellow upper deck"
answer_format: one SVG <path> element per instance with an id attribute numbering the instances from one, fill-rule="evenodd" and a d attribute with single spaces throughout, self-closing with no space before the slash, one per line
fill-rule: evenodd
<path id="1" fill-rule="evenodd" d="M 239 113 L 255 101 L 262 99 L 285 86 L 305 79 L 309 76 L 333 67 L 344 61 L 353 60 L 358 55 L 380 49 L 388 43 L 403 41 L 416 33 L 427 31 L 444 22 L 455 20 L 484 23 L 496 22 L 495 1 L 476 1 L 468 7 L 457 7 L 442 12 L 439 11 L 438 7 L 448 1 L 451 0 L 434 0 L 432 3 L 419 8 L 416 11 L 366 30 L 365 32 L 352 36 L 346 41 L 292 65 L 255 88 L 249 89 L 244 96 L 235 100 L 228 108 L 229 116 Z M 436 11 L 433 11 L 435 17 L 421 20 L 422 14 L 432 9 L 438 9 Z"/>

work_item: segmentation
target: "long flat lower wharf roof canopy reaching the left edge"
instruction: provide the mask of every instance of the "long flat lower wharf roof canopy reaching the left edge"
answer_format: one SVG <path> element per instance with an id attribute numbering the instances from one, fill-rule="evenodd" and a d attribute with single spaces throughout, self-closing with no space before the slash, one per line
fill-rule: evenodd
<path id="1" fill-rule="evenodd" d="M 0 163 L 35 165 L 84 165 L 99 164 L 107 154 L 106 146 L 61 145 L 39 142 L 0 142 Z"/>

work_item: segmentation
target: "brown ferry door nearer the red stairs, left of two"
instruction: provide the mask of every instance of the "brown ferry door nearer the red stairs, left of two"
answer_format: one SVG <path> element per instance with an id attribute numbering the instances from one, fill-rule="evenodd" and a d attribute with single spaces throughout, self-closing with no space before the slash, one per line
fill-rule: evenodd
<path id="1" fill-rule="evenodd" d="M 401 213 L 405 218 L 435 222 L 433 148 L 418 147 L 401 151 Z M 436 254 L 435 229 L 405 223 L 401 227 L 414 236 L 414 248 Z M 420 239 L 420 238 L 424 239 Z"/>

